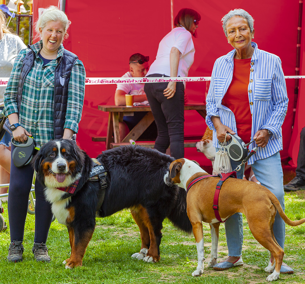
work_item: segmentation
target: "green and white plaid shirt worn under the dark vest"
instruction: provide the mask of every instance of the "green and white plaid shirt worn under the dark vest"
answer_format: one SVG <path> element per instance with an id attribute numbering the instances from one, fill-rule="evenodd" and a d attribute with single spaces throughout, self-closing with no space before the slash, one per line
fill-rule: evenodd
<path id="1" fill-rule="evenodd" d="M 57 59 L 43 66 L 43 60 L 38 56 L 42 48 L 42 41 L 32 45 L 36 53 L 35 64 L 26 76 L 19 123 L 30 134 L 33 135 L 36 145 L 42 145 L 50 139 L 54 139 L 53 117 L 54 117 L 54 71 Z M 64 47 L 61 45 L 57 58 L 63 55 Z M 4 115 L 18 113 L 17 89 L 23 59 L 30 49 L 24 49 L 19 53 L 14 62 L 10 79 L 4 94 Z M 82 61 L 77 60 L 71 72 L 68 85 L 68 101 L 66 121 L 64 128 L 78 131 L 78 123 L 82 116 L 82 106 L 85 94 L 85 68 Z"/>

